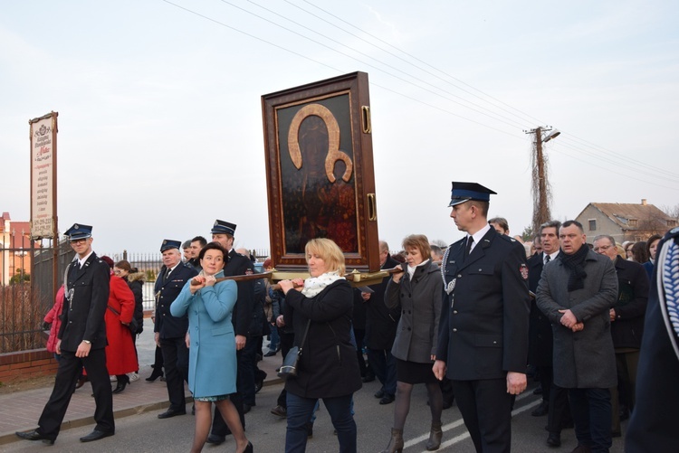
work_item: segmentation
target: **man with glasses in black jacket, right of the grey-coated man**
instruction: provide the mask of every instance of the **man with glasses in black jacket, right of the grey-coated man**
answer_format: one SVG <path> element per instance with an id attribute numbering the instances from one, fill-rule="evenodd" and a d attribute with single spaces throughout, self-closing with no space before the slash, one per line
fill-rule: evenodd
<path id="1" fill-rule="evenodd" d="M 593 244 L 594 251 L 613 261 L 617 273 L 617 302 L 608 314 L 617 368 L 617 388 L 611 389 L 612 434 L 619 437 L 622 434 L 620 419 L 625 420 L 635 406 L 636 370 L 648 301 L 648 275 L 641 264 L 623 260 L 617 255 L 616 240 L 612 236 L 599 235 L 594 238 Z"/>

